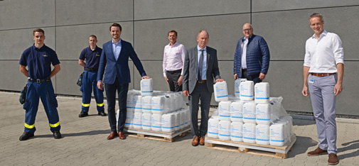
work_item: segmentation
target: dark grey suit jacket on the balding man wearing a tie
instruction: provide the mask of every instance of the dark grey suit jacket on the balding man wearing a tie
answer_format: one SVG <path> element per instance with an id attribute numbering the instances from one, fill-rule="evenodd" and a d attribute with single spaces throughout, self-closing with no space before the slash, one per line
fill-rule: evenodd
<path id="1" fill-rule="evenodd" d="M 198 50 L 197 46 L 190 48 L 186 52 L 185 62 L 183 65 L 183 90 L 188 90 L 191 94 L 195 89 L 195 83 L 198 77 Z M 220 70 L 218 69 L 217 50 L 207 46 L 207 87 L 210 93 L 213 93 L 213 77 L 220 78 Z"/>

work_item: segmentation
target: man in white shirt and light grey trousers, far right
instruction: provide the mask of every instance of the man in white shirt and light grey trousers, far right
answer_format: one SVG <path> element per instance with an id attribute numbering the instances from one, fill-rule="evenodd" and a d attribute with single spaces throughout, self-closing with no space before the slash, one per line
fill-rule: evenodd
<path id="1" fill-rule="evenodd" d="M 341 38 L 324 30 L 321 14 L 313 13 L 309 22 L 314 35 L 306 40 L 301 93 L 308 96 L 308 88 L 311 92 L 319 143 L 318 148 L 307 155 L 328 153 L 328 164 L 336 165 L 336 96 L 343 90 L 344 52 Z"/>

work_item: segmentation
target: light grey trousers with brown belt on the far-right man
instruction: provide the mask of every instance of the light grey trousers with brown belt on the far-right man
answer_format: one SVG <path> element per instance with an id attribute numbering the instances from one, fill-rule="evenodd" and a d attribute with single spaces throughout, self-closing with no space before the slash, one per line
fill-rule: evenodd
<path id="1" fill-rule="evenodd" d="M 338 153 L 336 148 L 336 96 L 334 96 L 337 80 L 337 74 L 326 77 L 309 74 L 308 77 L 311 104 L 318 130 L 318 145 L 319 148 L 328 150 L 329 154 Z"/>

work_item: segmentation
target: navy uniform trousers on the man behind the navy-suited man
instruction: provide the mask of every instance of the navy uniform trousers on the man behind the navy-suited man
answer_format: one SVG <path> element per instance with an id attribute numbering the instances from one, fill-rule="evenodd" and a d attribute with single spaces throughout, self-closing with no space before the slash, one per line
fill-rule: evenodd
<path id="1" fill-rule="evenodd" d="M 82 92 L 82 109 L 81 111 L 88 112 L 91 103 L 92 89 L 94 92 L 95 100 L 97 103 L 97 111 L 104 111 L 104 94 L 103 90 L 97 88 L 97 72 L 85 71 L 82 77 L 82 86 L 80 90 Z"/>

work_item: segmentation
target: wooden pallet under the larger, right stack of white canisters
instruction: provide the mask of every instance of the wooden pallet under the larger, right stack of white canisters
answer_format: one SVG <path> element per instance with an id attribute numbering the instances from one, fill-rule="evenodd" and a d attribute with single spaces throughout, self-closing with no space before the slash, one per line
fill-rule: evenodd
<path id="1" fill-rule="evenodd" d="M 291 136 L 291 141 L 284 146 L 259 145 L 256 143 L 243 143 L 232 140 L 220 140 L 217 138 L 205 138 L 205 147 L 226 150 L 230 152 L 248 153 L 268 157 L 286 158 L 287 153 L 293 149 L 296 143 L 296 135 Z"/>

